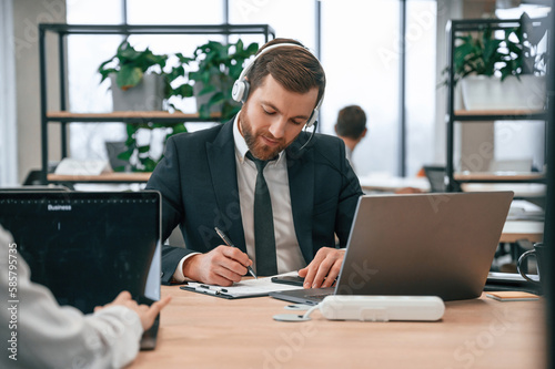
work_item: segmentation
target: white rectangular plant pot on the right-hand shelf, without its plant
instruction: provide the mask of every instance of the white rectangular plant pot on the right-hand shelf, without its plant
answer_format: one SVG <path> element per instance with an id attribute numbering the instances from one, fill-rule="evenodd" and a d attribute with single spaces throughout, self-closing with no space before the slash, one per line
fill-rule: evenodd
<path id="1" fill-rule="evenodd" d="M 501 78 L 467 75 L 461 81 L 466 110 L 543 110 L 546 96 L 543 75 Z"/>

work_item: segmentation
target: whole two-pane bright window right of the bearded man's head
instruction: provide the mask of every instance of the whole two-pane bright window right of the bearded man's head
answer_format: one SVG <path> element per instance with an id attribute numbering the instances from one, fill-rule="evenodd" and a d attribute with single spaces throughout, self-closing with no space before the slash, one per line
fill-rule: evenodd
<path id="1" fill-rule="evenodd" d="M 397 174 L 401 155 L 401 1 L 322 2 L 322 62 L 329 79 L 323 132 L 333 134 L 337 111 L 366 112 L 369 134 L 353 153 L 359 175 Z M 407 175 L 433 157 L 435 1 L 407 1 L 405 125 Z"/>

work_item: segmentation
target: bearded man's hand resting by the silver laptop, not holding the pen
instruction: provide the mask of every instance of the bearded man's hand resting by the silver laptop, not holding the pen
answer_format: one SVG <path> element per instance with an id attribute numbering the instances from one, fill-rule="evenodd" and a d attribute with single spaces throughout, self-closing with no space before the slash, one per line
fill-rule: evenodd
<path id="1" fill-rule="evenodd" d="M 304 288 L 331 287 L 340 275 L 344 256 L 344 249 L 319 249 L 312 263 L 299 270 L 299 276 L 304 277 Z"/>

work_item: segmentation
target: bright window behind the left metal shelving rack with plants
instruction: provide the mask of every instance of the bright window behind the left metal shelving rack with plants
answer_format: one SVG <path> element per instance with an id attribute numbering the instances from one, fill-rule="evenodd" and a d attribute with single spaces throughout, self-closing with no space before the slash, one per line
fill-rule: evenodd
<path id="1" fill-rule="evenodd" d="M 153 4 L 147 0 L 128 0 L 124 13 L 123 0 L 74 1 L 68 3 L 68 23 L 80 24 L 221 24 L 224 22 L 222 1 L 161 0 Z M 105 9 L 111 11 L 107 14 Z M 220 11 L 214 11 L 218 9 Z M 220 37 L 212 37 L 223 41 Z M 110 112 L 112 101 L 110 82 L 100 82 L 97 72 L 101 62 L 113 57 L 122 35 L 71 35 L 68 41 L 69 99 L 72 112 Z M 130 43 L 139 50 L 149 47 L 155 53 L 192 54 L 206 42 L 206 35 L 132 35 Z M 178 106 L 194 112 L 194 101 L 183 101 Z M 193 127 L 194 129 L 194 127 Z M 144 133 L 144 134 L 141 134 Z M 164 132 L 154 132 L 153 155 L 160 155 Z M 125 140 L 125 126 L 121 123 L 71 124 L 71 156 L 75 158 L 105 158 L 104 142 Z M 140 132 L 138 141 L 150 140 L 150 133 Z"/>

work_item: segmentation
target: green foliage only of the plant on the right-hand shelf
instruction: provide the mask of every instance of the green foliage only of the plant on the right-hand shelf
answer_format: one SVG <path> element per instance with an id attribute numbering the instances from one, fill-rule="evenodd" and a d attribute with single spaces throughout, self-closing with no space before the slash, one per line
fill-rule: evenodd
<path id="1" fill-rule="evenodd" d="M 501 34 L 501 37 L 500 37 Z M 545 72 L 546 54 L 537 52 L 537 43 L 543 34 L 534 35 L 532 21 L 526 13 L 521 17 L 521 25 L 500 31 L 484 25 L 474 33 L 456 35 L 454 50 L 455 84 L 468 74 L 519 78 L 522 74 Z M 448 75 L 448 68 L 443 70 Z M 447 84 L 444 80 L 443 84 Z"/>

